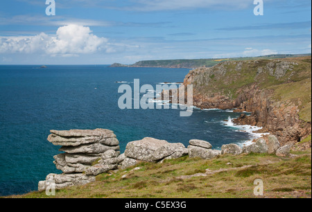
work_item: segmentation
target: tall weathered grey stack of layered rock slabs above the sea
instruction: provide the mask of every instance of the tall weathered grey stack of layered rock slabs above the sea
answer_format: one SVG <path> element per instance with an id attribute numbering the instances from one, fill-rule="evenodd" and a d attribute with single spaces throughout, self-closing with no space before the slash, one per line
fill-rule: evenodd
<path id="1" fill-rule="evenodd" d="M 48 175 L 46 181 L 39 182 L 39 191 L 51 180 L 55 188 L 87 184 L 96 175 L 118 167 L 119 141 L 111 130 L 51 130 L 48 141 L 62 145 L 64 153 L 55 155 L 53 161 L 62 174 Z"/>

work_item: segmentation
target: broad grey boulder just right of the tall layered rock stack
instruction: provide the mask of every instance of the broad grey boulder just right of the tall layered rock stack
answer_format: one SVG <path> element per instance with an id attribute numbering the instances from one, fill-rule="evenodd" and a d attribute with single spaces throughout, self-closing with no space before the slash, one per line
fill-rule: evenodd
<path id="1" fill-rule="evenodd" d="M 164 140 L 146 137 L 139 141 L 132 141 L 125 148 L 125 158 L 121 168 L 134 166 L 140 161 L 159 162 L 173 159 L 187 154 L 182 143 L 168 143 Z"/>

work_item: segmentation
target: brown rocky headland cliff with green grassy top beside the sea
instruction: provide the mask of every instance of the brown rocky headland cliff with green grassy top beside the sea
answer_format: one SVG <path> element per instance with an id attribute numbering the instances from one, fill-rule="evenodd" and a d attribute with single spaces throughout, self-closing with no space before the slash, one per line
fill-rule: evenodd
<path id="1" fill-rule="evenodd" d="M 311 57 L 227 61 L 193 69 L 193 105 L 252 112 L 236 123 L 263 127 L 282 144 L 311 135 Z"/>

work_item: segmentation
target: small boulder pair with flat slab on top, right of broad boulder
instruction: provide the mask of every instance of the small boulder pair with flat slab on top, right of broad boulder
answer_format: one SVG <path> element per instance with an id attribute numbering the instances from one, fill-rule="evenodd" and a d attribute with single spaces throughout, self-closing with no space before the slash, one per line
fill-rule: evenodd
<path id="1" fill-rule="evenodd" d="M 212 145 L 209 142 L 202 140 L 190 140 L 187 148 L 189 150 L 189 157 L 213 159 L 221 154 L 220 150 L 212 150 Z"/>

